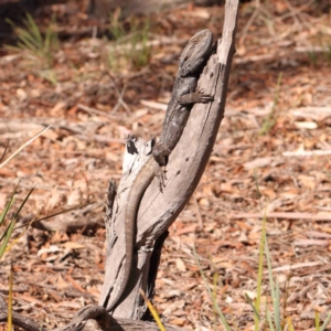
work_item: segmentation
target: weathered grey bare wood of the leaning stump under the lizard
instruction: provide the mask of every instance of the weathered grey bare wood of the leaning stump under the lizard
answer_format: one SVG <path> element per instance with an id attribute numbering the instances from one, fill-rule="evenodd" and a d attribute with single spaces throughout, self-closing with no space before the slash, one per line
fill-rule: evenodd
<path id="1" fill-rule="evenodd" d="M 224 116 L 228 75 L 235 52 L 237 7 L 238 1 L 227 1 L 222 42 L 218 42 L 217 53 L 210 57 L 199 82 L 199 88 L 214 95 L 214 102 L 209 105 L 197 104 L 191 110 L 184 132 L 169 158 L 168 180 L 163 193 L 159 191 L 158 181 L 153 180 L 142 197 L 137 217 L 137 269 L 134 270 L 129 282 L 130 293 L 115 310 L 116 318 L 140 319 L 143 314 L 139 288 L 146 290 L 152 286 L 148 284 L 148 275 L 153 243 L 174 222 L 192 196 L 211 156 Z M 140 147 L 141 141 L 137 145 L 139 154 L 135 154 L 136 159 L 132 157 L 129 163 L 125 162 L 125 169 L 131 169 L 131 172 L 124 173 L 114 204 L 113 220 L 108 225 L 107 232 L 110 237 L 107 242 L 106 275 L 100 306 L 106 306 L 116 297 L 122 277 L 127 194 L 134 178 L 147 159 L 146 149 Z"/>

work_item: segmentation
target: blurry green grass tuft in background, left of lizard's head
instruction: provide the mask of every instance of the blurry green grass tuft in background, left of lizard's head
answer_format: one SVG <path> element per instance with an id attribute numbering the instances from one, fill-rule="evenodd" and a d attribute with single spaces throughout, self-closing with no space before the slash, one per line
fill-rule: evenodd
<path id="1" fill-rule="evenodd" d="M 134 19 L 129 22 L 129 31 L 120 12 L 110 17 L 109 31 L 115 40 L 115 46 L 108 52 L 108 63 L 113 68 L 126 67 L 140 70 L 150 60 L 151 47 L 148 45 L 150 21 L 146 19 L 142 28 Z"/>

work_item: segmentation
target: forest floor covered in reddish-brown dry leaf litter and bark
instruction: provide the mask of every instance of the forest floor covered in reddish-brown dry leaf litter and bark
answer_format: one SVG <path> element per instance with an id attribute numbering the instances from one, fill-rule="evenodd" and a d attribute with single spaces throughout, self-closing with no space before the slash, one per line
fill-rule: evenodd
<path id="1" fill-rule="evenodd" d="M 265 213 L 285 323 L 316 330 L 316 312 L 323 321 L 331 311 L 331 17 L 318 1 L 256 3 L 241 6 L 225 117 L 203 178 L 170 227 L 158 274 L 158 311 L 190 330 L 222 330 L 193 244 L 232 329 L 254 329 L 245 295 L 256 296 Z M 121 177 L 127 135 L 159 135 L 183 45 L 205 28 L 220 38 L 224 7 L 185 6 L 151 15 L 149 26 L 128 19 L 109 30 L 125 28 L 127 47 L 99 38 L 105 26 L 74 4 L 45 7 L 34 20 L 47 26 L 52 14 L 55 51 L 3 45 L 0 57 L 1 153 L 8 139 L 9 156 L 52 125 L 0 168 L 0 210 L 18 183 L 17 205 L 34 188 L 21 222 L 95 201 L 34 224 L 1 261 L 0 292 L 8 296 L 12 261 L 14 309 L 47 328 L 97 303 L 103 205 L 108 180 Z M 138 41 L 135 22 L 145 29 Z M 146 31 L 151 49 L 139 50 Z"/>

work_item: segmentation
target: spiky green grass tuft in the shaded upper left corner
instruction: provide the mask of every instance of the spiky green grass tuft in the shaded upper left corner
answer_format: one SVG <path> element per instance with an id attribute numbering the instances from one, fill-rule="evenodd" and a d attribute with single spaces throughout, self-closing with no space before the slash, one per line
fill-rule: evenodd
<path id="1" fill-rule="evenodd" d="M 50 68 L 54 64 L 54 51 L 58 49 L 58 36 L 55 31 L 55 17 L 45 30 L 44 35 L 30 13 L 26 13 L 24 28 L 15 25 L 12 21 L 7 20 L 17 34 L 19 42 L 17 46 L 9 46 L 8 49 L 14 51 L 26 51 L 30 55 L 42 61 L 42 66 Z"/>

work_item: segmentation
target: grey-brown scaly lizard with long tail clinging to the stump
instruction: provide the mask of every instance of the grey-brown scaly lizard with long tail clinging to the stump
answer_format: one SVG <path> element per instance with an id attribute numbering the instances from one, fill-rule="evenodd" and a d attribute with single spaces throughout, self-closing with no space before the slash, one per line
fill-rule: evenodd
<path id="1" fill-rule="evenodd" d="M 134 264 L 134 249 L 136 244 L 136 217 L 140 200 L 154 177 L 163 185 L 162 168 L 167 166 L 168 157 L 178 143 L 186 125 L 190 110 L 195 103 L 209 103 L 213 96 L 195 92 L 200 74 L 210 56 L 213 36 L 210 30 L 195 33 L 183 50 L 179 70 L 175 76 L 172 97 L 167 108 L 166 119 L 159 142 L 152 150 L 152 156 L 142 166 L 130 188 L 125 223 L 126 259 L 124 278 L 120 289 L 107 311 L 111 311 L 124 299 L 124 293 L 129 284 Z"/>

